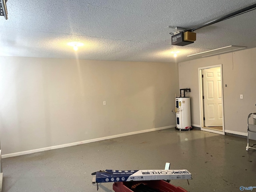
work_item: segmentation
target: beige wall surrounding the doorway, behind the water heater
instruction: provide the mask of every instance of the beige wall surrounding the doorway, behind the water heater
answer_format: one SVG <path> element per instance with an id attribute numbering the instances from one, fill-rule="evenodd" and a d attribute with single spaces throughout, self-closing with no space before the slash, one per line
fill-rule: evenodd
<path id="1" fill-rule="evenodd" d="M 179 63 L 180 88 L 191 88 L 192 124 L 200 125 L 198 68 L 222 64 L 225 130 L 244 135 L 248 114 L 256 112 L 255 61 L 256 48 L 252 48 Z"/>

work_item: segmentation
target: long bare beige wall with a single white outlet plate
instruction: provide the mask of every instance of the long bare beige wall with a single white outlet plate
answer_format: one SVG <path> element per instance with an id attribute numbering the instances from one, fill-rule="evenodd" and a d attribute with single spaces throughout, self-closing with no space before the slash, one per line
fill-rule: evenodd
<path id="1" fill-rule="evenodd" d="M 178 64 L 0 61 L 2 154 L 176 125 Z"/>

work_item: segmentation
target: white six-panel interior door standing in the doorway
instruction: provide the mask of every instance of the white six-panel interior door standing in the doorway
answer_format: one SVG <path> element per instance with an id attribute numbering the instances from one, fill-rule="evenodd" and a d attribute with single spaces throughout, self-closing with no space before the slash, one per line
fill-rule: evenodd
<path id="1" fill-rule="evenodd" d="M 203 70 L 204 126 L 222 126 L 220 67 Z"/>

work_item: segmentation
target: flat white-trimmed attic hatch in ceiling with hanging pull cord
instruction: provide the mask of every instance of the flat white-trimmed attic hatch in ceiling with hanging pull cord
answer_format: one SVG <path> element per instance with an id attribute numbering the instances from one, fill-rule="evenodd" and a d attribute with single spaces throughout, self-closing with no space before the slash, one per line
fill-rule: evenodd
<path id="1" fill-rule="evenodd" d="M 210 50 L 210 51 L 205 51 L 202 53 L 188 55 L 188 57 L 191 57 L 191 56 L 209 57 L 209 56 L 218 55 L 218 54 L 231 52 L 231 51 L 244 49 L 244 48 L 246 48 L 246 47 L 230 45 L 230 46 L 226 46 L 226 47 L 222 47 L 222 48 L 218 48 L 218 49 L 214 49 L 214 50 Z"/>

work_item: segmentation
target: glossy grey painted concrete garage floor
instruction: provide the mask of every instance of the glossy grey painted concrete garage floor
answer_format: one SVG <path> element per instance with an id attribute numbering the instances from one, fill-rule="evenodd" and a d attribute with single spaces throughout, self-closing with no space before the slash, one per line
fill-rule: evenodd
<path id="1" fill-rule="evenodd" d="M 236 192 L 256 186 L 256 150 L 246 139 L 174 128 L 2 159 L 3 192 L 93 192 L 98 170 L 187 169 L 172 180 L 189 192 Z M 112 192 L 113 183 L 99 184 Z M 256 191 L 253 189 L 252 191 Z"/>

